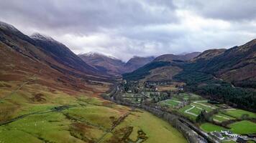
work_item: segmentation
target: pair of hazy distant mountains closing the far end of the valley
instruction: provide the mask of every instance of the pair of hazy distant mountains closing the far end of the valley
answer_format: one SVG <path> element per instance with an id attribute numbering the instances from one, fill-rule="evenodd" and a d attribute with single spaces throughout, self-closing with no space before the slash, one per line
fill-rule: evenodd
<path id="1" fill-rule="evenodd" d="M 78 54 L 78 56 L 83 59 L 86 63 L 91 66 L 96 67 L 100 71 L 106 72 L 111 75 L 120 75 L 123 73 L 134 71 L 135 69 L 150 63 L 154 56 L 140 57 L 134 56 L 129 59 L 127 63 L 120 59 L 116 59 L 113 56 L 106 56 L 97 52 L 89 52 L 86 54 Z"/>

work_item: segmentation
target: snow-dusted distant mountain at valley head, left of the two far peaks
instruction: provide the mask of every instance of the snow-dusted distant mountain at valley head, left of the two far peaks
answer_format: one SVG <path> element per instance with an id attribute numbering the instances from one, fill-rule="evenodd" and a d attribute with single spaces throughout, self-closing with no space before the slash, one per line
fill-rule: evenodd
<path id="1" fill-rule="evenodd" d="M 101 71 L 105 71 L 109 74 L 120 74 L 122 73 L 122 67 L 124 62 L 120 59 L 116 59 L 112 56 L 106 56 L 104 54 L 89 52 L 86 54 L 78 54 L 78 56 L 86 61 L 86 63 L 95 66 Z"/>

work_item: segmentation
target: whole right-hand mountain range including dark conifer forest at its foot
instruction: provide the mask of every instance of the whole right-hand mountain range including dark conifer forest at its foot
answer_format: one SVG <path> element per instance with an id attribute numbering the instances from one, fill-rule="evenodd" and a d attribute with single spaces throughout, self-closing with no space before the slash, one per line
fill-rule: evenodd
<path id="1" fill-rule="evenodd" d="M 187 92 L 256 111 L 256 39 L 230 49 L 210 49 L 191 55 L 194 57 L 188 59 L 173 54 L 158 56 L 149 64 L 123 74 L 123 78 L 184 82 Z"/>

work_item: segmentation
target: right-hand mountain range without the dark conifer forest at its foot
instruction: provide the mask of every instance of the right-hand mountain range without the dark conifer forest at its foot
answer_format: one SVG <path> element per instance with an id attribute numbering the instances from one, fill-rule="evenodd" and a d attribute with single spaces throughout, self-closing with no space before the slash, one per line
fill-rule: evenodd
<path id="1" fill-rule="evenodd" d="M 185 55 L 165 54 L 132 73 L 124 74 L 124 78 L 163 80 L 172 79 L 175 74 L 184 70 L 201 71 L 238 87 L 255 88 L 255 51 L 256 39 L 231 49 L 209 49 L 203 53 L 195 52 Z M 148 67 L 151 67 L 150 71 Z"/>

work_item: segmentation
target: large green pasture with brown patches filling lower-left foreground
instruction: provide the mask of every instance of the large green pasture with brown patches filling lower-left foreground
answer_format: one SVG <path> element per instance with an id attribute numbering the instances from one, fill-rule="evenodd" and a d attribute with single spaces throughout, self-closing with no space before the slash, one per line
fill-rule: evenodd
<path id="1" fill-rule="evenodd" d="M 136 140 L 142 133 L 145 142 L 162 142 L 162 138 L 163 142 L 186 142 L 170 124 L 148 112 L 131 111 L 91 94 L 70 96 L 38 84 L 25 85 L 10 94 L 15 85 L 0 87 L 0 142 L 109 142 L 124 134 Z M 112 132 L 116 134 L 109 133 L 114 124 Z"/>

